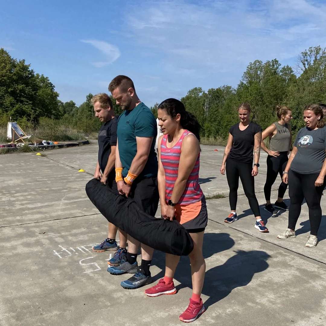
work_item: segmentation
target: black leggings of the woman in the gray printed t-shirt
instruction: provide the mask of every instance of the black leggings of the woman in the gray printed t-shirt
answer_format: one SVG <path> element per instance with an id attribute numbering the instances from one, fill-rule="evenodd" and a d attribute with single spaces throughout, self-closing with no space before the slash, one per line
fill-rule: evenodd
<path id="1" fill-rule="evenodd" d="M 288 228 L 295 230 L 295 225 L 301 213 L 301 205 L 306 200 L 309 209 L 310 234 L 316 235 L 321 221 L 320 200 L 324 185 L 315 187 L 315 181 L 319 173 L 301 174 L 289 170 L 289 196 L 291 204 L 289 208 Z"/>

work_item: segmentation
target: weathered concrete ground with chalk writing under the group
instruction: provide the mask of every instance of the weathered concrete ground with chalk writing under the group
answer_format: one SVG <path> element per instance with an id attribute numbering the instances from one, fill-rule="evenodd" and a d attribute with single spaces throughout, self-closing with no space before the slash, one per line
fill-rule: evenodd
<path id="1" fill-rule="evenodd" d="M 226 176 L 219 173 L 223 150 L 202 146 L 200 183 L 205 194 L 228 195 Z M 106 271 L 110 253 L 91 250 L 107 235 L 105 218 L 84 190 L 94 173 L 97 144 L 45 154 L 0 156 L 0 325 L 181 325 L 178 316 L 192 292 L 188 258 L 182 257 L 177 268 L 175 295 L 149 298 L 144 288 L 121 288 L 127 277 Z M 264 153 L 260 162 L 255 180 L 262 208 Z M 86 173 L 78 172 L 80 168 Z M 288 194 L 285 199 L 289 202 Z M 287 227 L 287 212 L 271 216 L 262 209 L 270 233 L 254 229 L 241 187 L 237 222 L 223 223 L 230 213 L 228 197 L 208 200 L 207 207 L 202 291 L 207 311 L 194 325 L 326 325 L 325 216 L 318 246 L 306 248 L 305 204 L 298 236 L 289 240 L 276 238 Z M 156 282 L 164 275 L 164 254 L 155 252 L 152 263 Z"/>

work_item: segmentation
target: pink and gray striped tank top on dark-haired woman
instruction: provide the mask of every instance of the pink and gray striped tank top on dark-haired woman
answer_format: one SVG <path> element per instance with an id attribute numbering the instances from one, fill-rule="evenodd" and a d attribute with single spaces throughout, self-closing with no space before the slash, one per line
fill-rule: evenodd
<path id="1" fill-rule="evenodd" d="M 164 135 L 162 138 L 161 162 L 165 172 L 166 200 L 170 200 L 173 186 L 178 177 L 182 141 L 184 140 L 185 136 L 189 134 L 191 134 L 191 132 L 189 130 L 185 130 L 178 142 L 172 148 L 166 147 L 168 135 Z M 193 204 L 197 201 L 200 201 L 204 196 L 198 183 L 199 156 L 200 154 L 198 154 L 195 166 L 188 177 L 185 191 L 178 201 L 179 205 Z"/>

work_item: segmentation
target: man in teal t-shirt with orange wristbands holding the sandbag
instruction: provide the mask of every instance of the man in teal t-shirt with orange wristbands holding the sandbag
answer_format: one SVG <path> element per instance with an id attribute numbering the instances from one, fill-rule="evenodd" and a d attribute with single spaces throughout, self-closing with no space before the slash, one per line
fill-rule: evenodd
<path id="1" fill-rule="evenodd" d="M 120 195 L 133 198 L 145 213 L 155 216 L 158 206 L 157 170 L 155 152 L 156 120 L 151 110 L 138 98 L 132 80 L 119 75 L 110 82 L 109 91 L 116 104 L 124 110 L 118 118 L 115 152 L 116 183 Z M 126 235 L 123 232 L 124 235 Z M 117 252 L 118 266 L 111 266 L 113 275 L 135 273 L 121 282 L 125 289 L 137 289 L 152 283 L 149 267 L 153 249 L 141 244 L 141 265 L 137 263 L 140 242 L 128 235 L 126 256 Z"/>

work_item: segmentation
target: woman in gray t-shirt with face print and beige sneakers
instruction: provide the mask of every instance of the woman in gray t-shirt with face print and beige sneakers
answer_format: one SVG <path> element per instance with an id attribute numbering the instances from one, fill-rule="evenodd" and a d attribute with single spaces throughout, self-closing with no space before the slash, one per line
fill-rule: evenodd
<path id="1" fill-rule="evenodd" d="M 283 172 L 283 182 L 289 182 L 289 224 L 277 238 L 294 238 L 295 225 L 305 199 L 309 208 L 310 236 L 307 247 L 316 247 L 321 221 L 320 199 L 326 175 L 326 126 L 323 111 L 318 104 L 304 109 L 306 126 L 299 130 L 293 144 L 288 164 Z"/>

